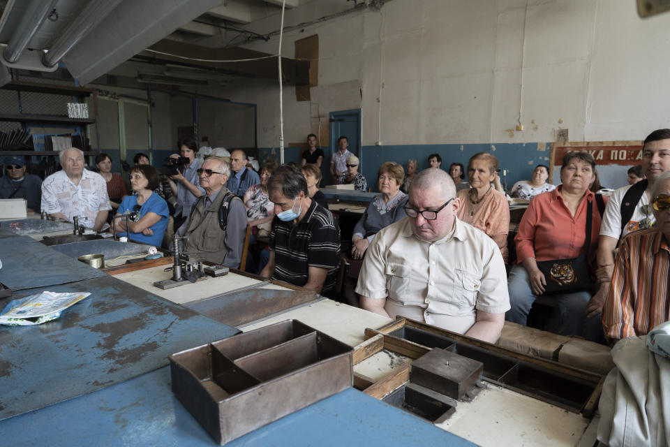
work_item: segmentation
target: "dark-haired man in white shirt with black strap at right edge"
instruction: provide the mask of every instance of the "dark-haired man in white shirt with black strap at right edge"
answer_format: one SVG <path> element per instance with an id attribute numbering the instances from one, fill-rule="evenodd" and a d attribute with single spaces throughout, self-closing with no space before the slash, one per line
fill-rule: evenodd
<path id="1" fill-rule="evenodd" d="M 670 129 L 657 129 L 647 135 L 642 147 L 641 164 L 646 179 L 614 191 L 602 215 L 596 271 L 600 288 L 586 307 L 589 318 L 600 314 L 609 294 L 619 241 L 628 233 L 650 228 L 654 224 L 651 191 L 657 177 L 670 170 Z"/>

